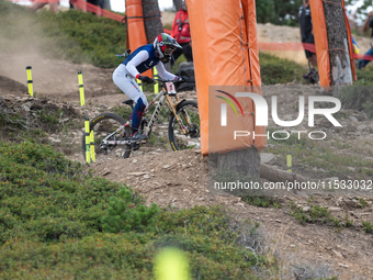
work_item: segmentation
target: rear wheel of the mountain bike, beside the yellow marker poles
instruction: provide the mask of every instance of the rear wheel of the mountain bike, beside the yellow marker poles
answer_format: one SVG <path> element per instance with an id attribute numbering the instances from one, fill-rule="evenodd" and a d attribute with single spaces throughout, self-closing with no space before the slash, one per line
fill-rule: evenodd
<path id="1" fill-rule="evenodd" d="M 131 149 L 128 152 L 127 145 L 117 144 L 103 144 L 103 139 L 111 142 L 126 141 L 131 135 L 131 128 L 124 127 L 125 120 L 114 113 L 103 113 L 94 116 L 90 123 L 90 132 L 93 131 L 94 135 L 94 154 L 95 161 L 110 160 L 115 156 L 129 157 Z M 83 135 L 81 141 L 81 149 L 86 160 L 86 136 Z"/>

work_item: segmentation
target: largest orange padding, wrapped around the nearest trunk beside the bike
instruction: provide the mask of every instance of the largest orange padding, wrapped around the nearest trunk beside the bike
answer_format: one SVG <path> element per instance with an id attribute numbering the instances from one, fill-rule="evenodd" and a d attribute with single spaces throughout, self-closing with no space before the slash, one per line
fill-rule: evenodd
<path id="1" fill-rule="evenodd" d="M 267 138 L 256 139 L 255 143 L 252 137 L 247 137 L 244 142 L 233 142 L 229 138 L 231 135 L 222 133 L 224 130 L 216 122 L 221 117 L 219 112 L 210 112 L 210 105 L 215 108 L 218 105 L 216 102 L 221 102 L 221 99 L 210 98 L 210 91 L 227 94 L 226 91 L 235 88 L 261 94 L 255 1 L 236 0 L 227 4 L 225 0 L 216 0 L 214 5 L 208 0 L 187 2 L 193 42 L 202 154 L 206 156 L 208 153 L 238 150 L 253 145 L 259 150 L 262 149 L 267 145 Z M 239 108 L 242 104 L 240 108 L 242 115 L 235 119 L 238 121 L 234 125 L 245 126 L 251 133 L 255 131 L 264 133 L 264 127 L 255 127 L 252 100 L 241 97 L 238 99 L 234 100 Z M 230 114 L 234 114 L 231 112 Z M 214 122 L 210 122 L 208 117 Z M 214 138 L 214 147 L 210 147 L 208 137 L 215 132 L 219 133 L 218 139 L 215 142 Z"/>

